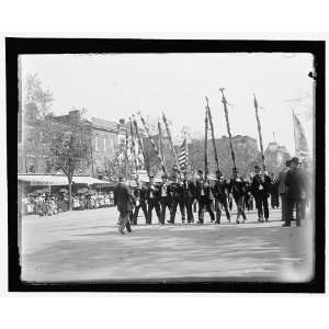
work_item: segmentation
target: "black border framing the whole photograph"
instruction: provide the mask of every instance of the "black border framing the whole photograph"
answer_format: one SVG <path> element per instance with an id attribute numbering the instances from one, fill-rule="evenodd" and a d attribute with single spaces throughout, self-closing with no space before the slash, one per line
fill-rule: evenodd
<path id="1" fill-rule="evenodd" d="M 228 39 L 129 39 L 129 38 L 5 38 L 7 151 L 8 151 L 8 285 L 10 292 L 325 292 L 325 50 L 324 41 L 228 41 Z M 315 71 L 315 275 L 305 283 L 227 280 L 148 280 L 66 283 L 21 281 L 21 215 L 18 202 L 16 139 L 19 104 L 19 56 L 24 54 L 106 53 L 309 53 Z"/>

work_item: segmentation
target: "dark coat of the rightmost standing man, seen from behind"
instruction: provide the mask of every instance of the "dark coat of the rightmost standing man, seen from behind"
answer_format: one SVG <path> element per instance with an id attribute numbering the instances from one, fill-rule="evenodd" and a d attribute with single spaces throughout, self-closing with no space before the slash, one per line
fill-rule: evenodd
<path id="1" fill-rule="evenodd" d="M 302 168 L 290 169 L 285 177 L 286 197 L 304 200 L 307 196 L 307 177 Z"/>

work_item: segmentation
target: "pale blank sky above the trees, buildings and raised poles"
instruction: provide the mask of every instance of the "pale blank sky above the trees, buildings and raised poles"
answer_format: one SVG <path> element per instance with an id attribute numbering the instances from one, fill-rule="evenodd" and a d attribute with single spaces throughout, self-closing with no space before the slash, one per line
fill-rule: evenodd
<path id="1" fill-rule="evenodd" d="M 309 54 L 24 55 L 22 72 L 37 73 L 54 95 L 53 112 L 88 110 L 88 117 L 128 118 L 163 111 L 179 138 L 182 126 L 204 132 L 205 97 L 216 137 L 227 135 L 219 88 L 225 87 L 232 135 L 258 138 L 253 98 L 260 106 L 264 147 L 273 140 L 294 155 L 292 107 L 309 147 L 313 135 L 313 70 Z M 299 99 L 298 101 L 290 101 Z"/>

